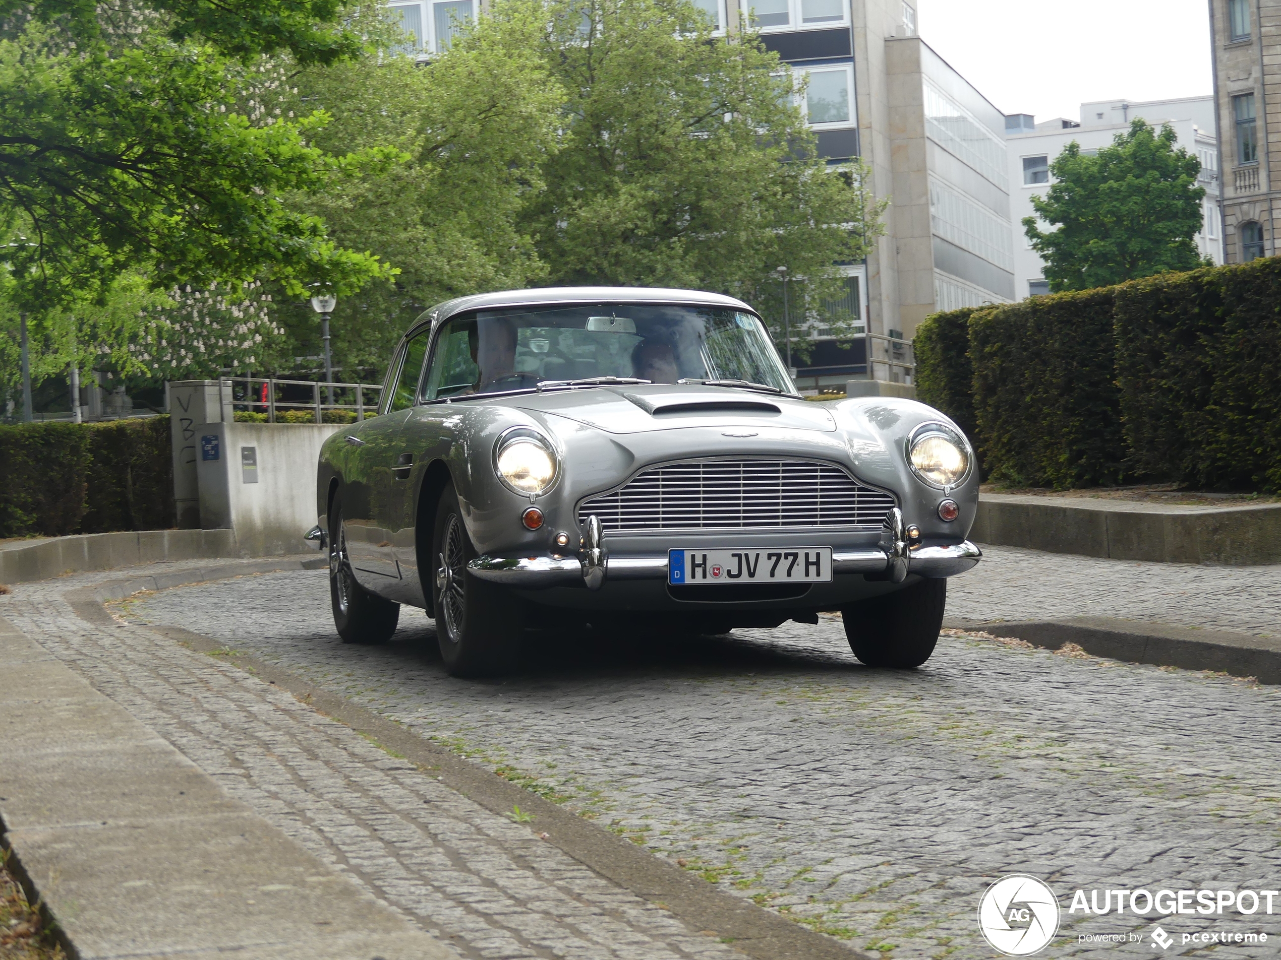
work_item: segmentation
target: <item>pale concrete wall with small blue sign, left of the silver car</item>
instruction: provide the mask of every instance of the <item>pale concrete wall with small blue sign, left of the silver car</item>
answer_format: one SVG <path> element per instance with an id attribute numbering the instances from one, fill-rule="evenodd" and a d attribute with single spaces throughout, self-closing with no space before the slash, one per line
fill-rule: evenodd
<path id="1" fill-rule="evenodd" d="M 320 447 L 341 424 L 204 424 L 197 429 L 200 524 L 232 527 L 243 556 L 311 549 Z"/>

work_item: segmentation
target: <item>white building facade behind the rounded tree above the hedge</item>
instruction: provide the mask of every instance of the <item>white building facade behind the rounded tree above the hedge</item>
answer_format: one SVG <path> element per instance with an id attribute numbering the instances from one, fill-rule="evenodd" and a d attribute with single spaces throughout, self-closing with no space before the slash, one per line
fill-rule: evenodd
<path id="1" fill-rule="evenodd" d="M 1012 114 L 1006 118 L 1006 143 L 1012 184 L 1015 300 L 1049 293 L 1044 261 L 1031 248 L 1022 227 L 1025 216 L 1036 215 L 1031 198 L 1044 196 L 1050 184 L 1049 165 L 1073 141 L 1081 145 L 1084 152 L 1098 152 L 1111 146 L 1117 134 L 1125 133 L 1130 122 L 1136 118 L 1154 127 L 1168 123 L 1179 136 L 1179 146 L 1200 160 L 1198 184 L 1205 188 L 1205 198 L 1202 201 L 1202 229 L 1195 238 L 1196 248 L 1216 264 L 1223 262 L 1218 140 L 1212 96 L 1145 102 L 1104 100 L 1081 104 L 1079 120 L 1057 118 L 1036 124 L 1027 114 Z"/>

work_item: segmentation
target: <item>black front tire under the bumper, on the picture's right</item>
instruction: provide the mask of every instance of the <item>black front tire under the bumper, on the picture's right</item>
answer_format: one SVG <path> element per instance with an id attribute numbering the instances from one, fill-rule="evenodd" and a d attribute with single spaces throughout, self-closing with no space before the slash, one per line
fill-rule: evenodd
<path id="1" fill-rule="evenodd" d="M 947 599 L 947 580 L 921 580 L 842 607 L 849 649 L 869 667 L 916 669 L 939 641 Z"/>

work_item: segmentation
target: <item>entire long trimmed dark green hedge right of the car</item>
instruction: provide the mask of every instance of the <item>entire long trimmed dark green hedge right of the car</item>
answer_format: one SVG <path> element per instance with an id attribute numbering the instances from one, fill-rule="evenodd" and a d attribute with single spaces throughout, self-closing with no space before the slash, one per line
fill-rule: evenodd
<path id="1" fill-rule="evenodd" d="M 965 338 L 962 312 L 917 333 L 918 392 L 974 410 L 993 479 L 1281 490 L 1281 259 L 976 310 Z"/>

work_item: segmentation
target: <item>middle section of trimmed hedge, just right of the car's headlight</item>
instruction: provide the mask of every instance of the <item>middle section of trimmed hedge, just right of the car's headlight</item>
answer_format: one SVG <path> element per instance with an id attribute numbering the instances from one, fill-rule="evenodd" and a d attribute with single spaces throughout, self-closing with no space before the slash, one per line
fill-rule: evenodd
<path id="1" fill-rule="evenodd" d="M 971 316 L 979 447 L 994 480 L 1065 489 L 1125 479 L 1114 289 L 1034 297 Z"/>

